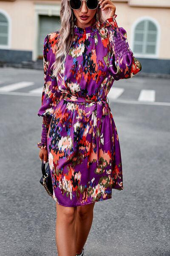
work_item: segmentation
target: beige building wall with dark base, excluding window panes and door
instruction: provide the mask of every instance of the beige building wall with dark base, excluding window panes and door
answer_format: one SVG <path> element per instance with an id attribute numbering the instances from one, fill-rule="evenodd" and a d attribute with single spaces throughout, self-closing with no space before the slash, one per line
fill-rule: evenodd
<path id="1" fill-rule="evenodd" d="M 155 56 L 142 56 L 134 52 L 136 58 L 143 61 L 145 72 L 156 73 L 152 63 L 161 63 L 161 72 L 170 73 L 170 5 L 169 1 L 153 0 L 114 0 L 118 26 L 127 31 L 130 48 L 133 50 L 133 35 L 136 23 L 141 19 L 150 19 L 158 28 L 158 49 Z M 9 20 L 9 45 L 0 47 L 0 62 L 35 61 L 37 59 L 39 24 L 38 15 L 59 16 L 60 1 L 57 0 L 0 0 L 0 12 Z M 51 31 L 52 32 L 52 31 Z M 18 56 L 11 59 L 11 56 Z M 166 64 L 166 69 L 163 68 Z M 147 67 L 149 65 L 149 67 Z M 150 66 L 151 65 L 151 66 Z M 158 68 L 159 69 L 159 68 Z"/>

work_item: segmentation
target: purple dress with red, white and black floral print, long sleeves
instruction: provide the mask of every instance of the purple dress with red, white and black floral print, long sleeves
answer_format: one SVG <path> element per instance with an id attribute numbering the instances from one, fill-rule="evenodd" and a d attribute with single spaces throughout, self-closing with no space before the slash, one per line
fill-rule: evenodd
<path id="1" fill-rule="evenodd" d="M 129 79 L 141 69 L 125 29 L 115 18 L 92 26 L 74 26 L 74 40 L 61 76 L 52 76 L 59 32 L 44 41 L 44 87 L 41 142 L 48 150 L 53 198 L 75 207 L 112 197 L 123 189 L 117 129 L 107 95 L 114 80 Z"/>

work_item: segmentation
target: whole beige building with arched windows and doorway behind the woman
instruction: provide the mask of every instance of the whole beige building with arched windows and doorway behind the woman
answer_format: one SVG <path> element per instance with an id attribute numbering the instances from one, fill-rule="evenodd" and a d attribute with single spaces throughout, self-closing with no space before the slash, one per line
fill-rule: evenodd
<path id="1" fill-rule="evenodd" d="M 170 0 L 114 0 L 142 72 L 170 74 Z M 45 35 L 60 27 L 60 0 L 0 0 L 0 63 L 42 58 Z"/>

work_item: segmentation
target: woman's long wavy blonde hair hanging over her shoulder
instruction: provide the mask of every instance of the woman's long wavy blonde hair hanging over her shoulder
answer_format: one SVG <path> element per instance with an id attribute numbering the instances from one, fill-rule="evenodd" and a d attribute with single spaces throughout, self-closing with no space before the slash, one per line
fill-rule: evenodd
<path id="1" fill-rule="evenodd" d="M 98 9 L 96 9 L 96 13 L 97 12 L 98 20 L 101 23 L 104 20 L 102 19 L 101 9 L 99 8 L 99 6 Z M 75 24 L 76 16 L 74 15 L 74 12 L 68 3 L 68 0 L 62 0 L 60 9 L 61 28 L 59 29 L 59 37 L 57 38 L 57 51 L 55 54 L 56 60 L 51 65 L 51 67 L 53 67 L 52 76 L 57 76 L 57 74 L 60 73 L 62 65 L 65 63 L 65 59 L 71 47 L 73 41 L 73 35 L 71 34 L 72 18 Z"/>

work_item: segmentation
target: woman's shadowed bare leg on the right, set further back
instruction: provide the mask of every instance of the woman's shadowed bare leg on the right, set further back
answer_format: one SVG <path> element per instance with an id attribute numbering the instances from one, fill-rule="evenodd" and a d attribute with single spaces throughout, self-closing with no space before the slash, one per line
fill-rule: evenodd
<path id="1" fill-rule="evenodd" d="M 77 206 L 75 221 L 76 254 L 82 252 L 82 248 L 88 238 L 88 234 L 93 222 L 94 203 Z"/>

